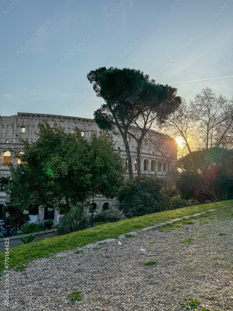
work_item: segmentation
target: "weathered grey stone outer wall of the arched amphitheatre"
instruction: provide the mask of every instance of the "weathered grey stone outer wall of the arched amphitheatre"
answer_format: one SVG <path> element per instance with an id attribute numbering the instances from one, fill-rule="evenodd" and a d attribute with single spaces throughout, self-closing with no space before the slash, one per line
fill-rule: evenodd
<path id="1" fill-rule="evenodd" d="M 68 133 L 73 133 L 75 127 L 79 128 L 81 132 L 83 132 L 84 137 L 89 137 L 92 133 L 99 133 L 100 129 L 97 124 L 92 119 L 86 118 L 76 118 L 69 116 L 60 116 L 60 115 L 50 115 L 50 114 L 30 114 L 30 113 L 18 113 L 17 115 L 12 115 L 10 117 L 0 116 L 0 176 L 9 176 L 10 172 L 7 165 L 3 165 L 4 153 L 6 151 L 14 150 L 14 151 L 23 151 L 23 145 L 20 142 L 20 139 L 28 139 L 30 142 L 34 142 L 37 140 L 36 133 L 39 132 L 38 125 L 43 121 L 48 122 L 50 126 L 53 126 L 54 122 L 57 125 L 62 126 Z M 22 128 L 22 130 L 21 130 Z M 121 157 L 126 160 L 126 152 L 123 139 L 118 133 L 110 132 L 113 140 L 116 142 L 116 149 L 121 150 Z M 137 131 L 134 132 L 135 136 L 137 135 Z M 141 172 L 144 174 L 156 174 L 158 177 L 165 178 L 167 174 L 167 166 L 172 164 L 172 159 L 176 158 L 176 144 L 171 137 L 167 137 L 161 133 L 150 131 L 151 137 L 155 141 L 163 141 L 165 146 L 166 157 L 163 157 L 160 152 L 158 152 L 153 144 L 149 140 L 147 142 L 144 141 L 141 149 Z M 131 156 L 132 156 L 132 164 L 133 164 L 133 174 L 136 175 L 137 171 L 135 169 L 135 160 L 137 158 L 136 153 L 136 141 L 131 137 L 129 142 Z M 17 159 L 11 153 L 11 162 L 13 165 L 17 165 Z M 168 160 L 167 160 L 168 158 Z M 171 159 L 171 160 L 170 160 Z M 144 170 L 144 160 L 148 161 L 148 167 Z M 151 170 L 151 163 L 155 162 L 154 170 Z M 161 161 L 162 169 L 158 171 L 158 163 Z M 164 163 L 164 165 L 163 165 Z M 168 164 L 169 163 L 169 164 Z M 165 168 L 165 171 L 163 170 Z M 5 196 L 0 195 L 0 204 L 4 204 Z M 103 208 L 103 204 L 108 202 L 109 207 L 116 205 L 116 200 L 107 200 L 103 196 L 96 196 L 95 201 L 97 211 L 101 211 Z M 39 210 L 39 221 L 43 221 L 43 210 Z M 54 220 L 57 221 L 57 211 L 54 215 Z"/>

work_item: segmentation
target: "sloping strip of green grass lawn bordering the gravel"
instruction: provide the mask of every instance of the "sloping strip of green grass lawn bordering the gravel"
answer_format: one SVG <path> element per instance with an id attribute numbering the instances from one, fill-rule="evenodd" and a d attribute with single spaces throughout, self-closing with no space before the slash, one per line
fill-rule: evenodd
<path id="1" fill-rule="evenodd" d="M 187 215 L 193 215 L 198 212 L 216 209 L 221 213 L 224 207 L 233 207 L 233 200 L 222 201 L 217 203 L 209 203 L 196 205 L 191 207 L 178 208 L 171 211 L 162 211 L 159 213 L 134 217 L 121 220 L 115 223 L 89 228 L 86 230 L 73 232 L 66 235 L 55 236 L 50 239 L 33 242 L 30 244 L 22 244 L 18 247 L 11 248 L 9 252 L 10 266 L 16 267 L 19 264 L 26 264 L 30 260 L 42 257 L 49 257 L 54 253 L 64 250 L 70 250 L 82 247 L 89 243 L 95 243 L 104 239 L 116 239 L 119 235 L 131 231 L 137 231 L 146 227 L 156 225 L 174 218 L 181 218 Z M 11 246 L 11 240 L 10 240 Z M 5 252 L 0 252 L 0 272 L 4 270 Z"/>

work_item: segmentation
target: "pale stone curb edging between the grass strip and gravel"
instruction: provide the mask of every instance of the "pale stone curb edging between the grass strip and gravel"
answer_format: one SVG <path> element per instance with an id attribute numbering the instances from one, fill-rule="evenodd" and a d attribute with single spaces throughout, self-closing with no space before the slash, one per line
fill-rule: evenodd
<path id="1" fill-rule="evenodd" d="M 213 210 L 208 210 L 208 211 L 210 212 L 210 211 L 215 211 L 215 210 L 213 209 Z M 171 220 L 169 220 L 169 221 L 161 222 L 161 223 L 159 223 L 158 225 L 151 226 L 151 227 L 147 227 L 147 228 L 143 228 L 143 229 L 141 229 L 141 230 L 138 230 L 137 232 L 127 232 L 126 234 L 137 234 L 137 233 L 142 233 L 142 232 L 149 231 L 149 230 L 158 229 L 158 228 L 160 228 L 160 227 L 162 227 L 162 226 L 164 226 L 164 225 L 172 224 L 172 223 L 174 223 L 174 222 L 176 222 L 176 221 L 180 221 L 180 220 L 187 219 L 187 218 L 190 218 L 190 217 L 200 216 L 200 215 L 202 215 L 202 214 L 205 214 L 205 213 L 208 212 L 208 211 L 196 213 L 196 214 L 194 214 L 194 215 L 184 216 L 184 217 L 182 217 L 182 218 L 171 219 Z M 103 242 L 107 242 L 107 243 L 108 243 L 108 242 L 117 241 L 117 240 L 119 240 L 119 239 L 126 239 L 126 237 L 124 236 L 124 234 L 121 234 L 121 235 L 118 237 L 118 239 L 105 239 L 105 240 L 102 240 L 102 241 L 98 241 L 98 242 L 96 242 L 96 243 L 87 244 L 87 245 L 82 246 L 82 247 L 79 247 L 79 248 L 77 248 L 77 249 L 93 248 L 93 247 L 98 246 L 99 243 L 103 243 Z M 73 253 L 73 251 L 74 251 L 74 250 L 69 251 L 69 252 Z M 63 253 L 63 254 L 61 254 L 60 256 L 58 255 L 57 257 L 62 257 L 62 256 L 65 256 L 66 254 L 67 254 L 67 253 L 65 253 L 65 254 Z"/>

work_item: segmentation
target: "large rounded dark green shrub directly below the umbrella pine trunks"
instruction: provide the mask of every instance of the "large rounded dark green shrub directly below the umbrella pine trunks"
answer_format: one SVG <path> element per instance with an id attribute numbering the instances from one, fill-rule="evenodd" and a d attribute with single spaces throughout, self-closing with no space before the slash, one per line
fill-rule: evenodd
<path id="1" fill-rule="evenodd" d="M 163 191 L 163 181 L 154 175 L 140 175 L 126 180 L 117 199 L 119 209 L 128 218 L 163 211 L 169 206 L 168 197 Z"/>

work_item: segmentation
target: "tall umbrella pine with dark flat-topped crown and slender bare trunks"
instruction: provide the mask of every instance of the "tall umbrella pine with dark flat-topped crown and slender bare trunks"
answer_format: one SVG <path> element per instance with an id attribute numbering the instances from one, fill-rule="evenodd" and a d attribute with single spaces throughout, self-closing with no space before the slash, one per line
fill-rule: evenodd
<path id="1" fill-rule="evenodd" d="M 143 138 L 154 121 L 162 123 L 180 104 L 177 90 L 157 84 L 140 70 L 130 68 L 100 67 L 87 75 L 98 97 L 105 101 L 94 112 L 94 120 L 105 130 L 118 128 L 123 138 L 129 167 L 133 177 L 127 134 L 137 142 L 138 175 L 140 174 L 140 150 Z M 140 133 L 137 135 L 134 128 Z"/>

